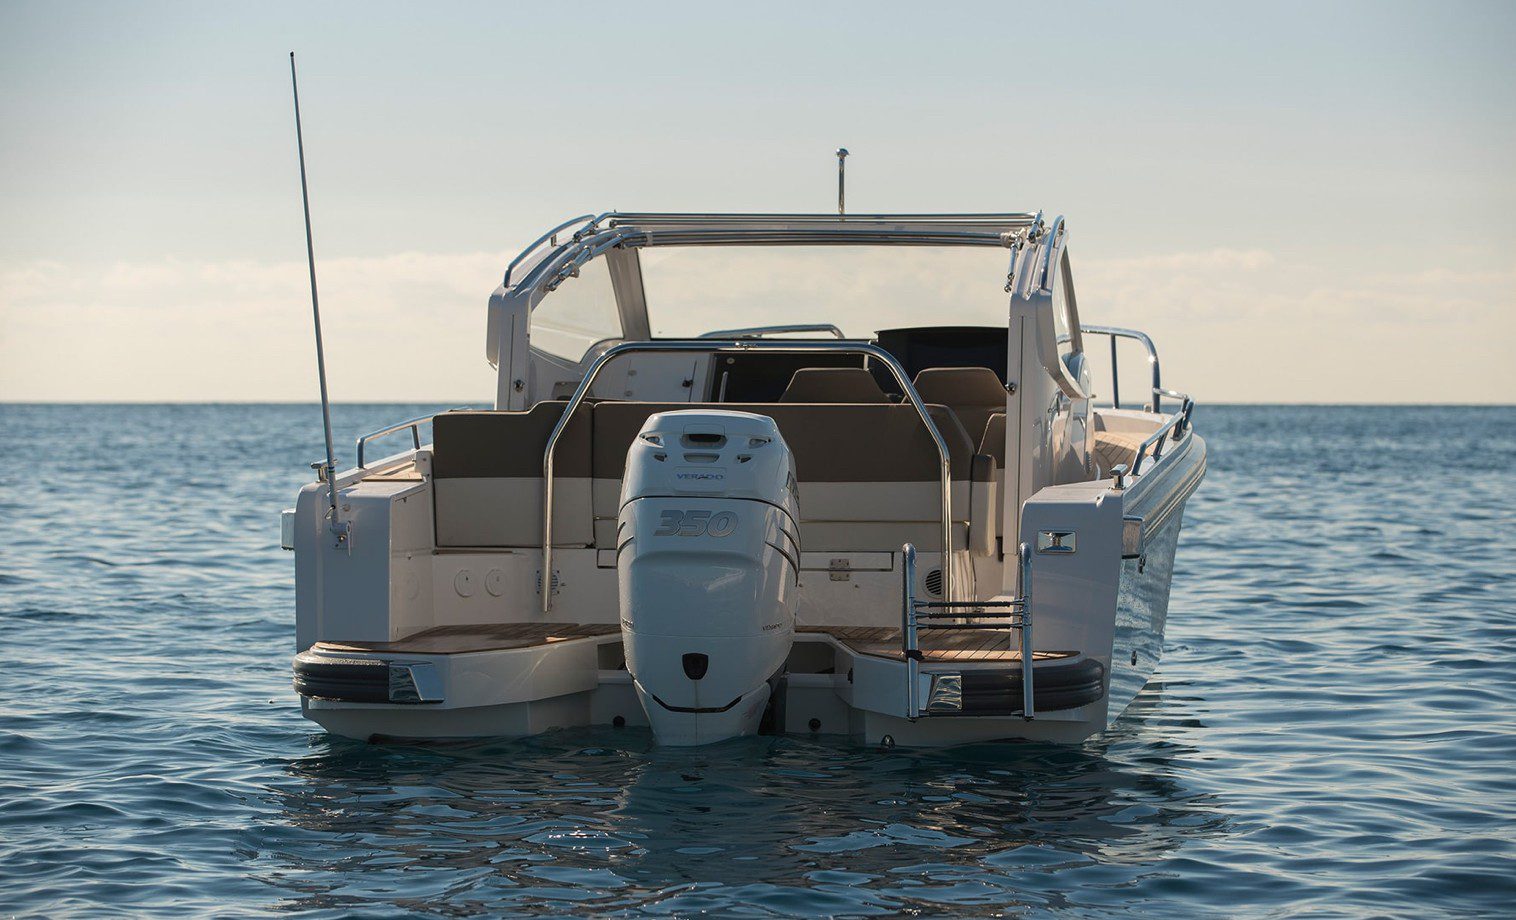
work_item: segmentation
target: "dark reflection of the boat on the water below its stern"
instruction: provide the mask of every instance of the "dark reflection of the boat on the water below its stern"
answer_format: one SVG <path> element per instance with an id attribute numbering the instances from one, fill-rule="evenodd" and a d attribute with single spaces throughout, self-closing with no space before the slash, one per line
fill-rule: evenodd
<path id="1" fill-rule="evenodd" d="M 1149 688 L 1123 729 L 1140 758 L 1108 743 L 882 752 L 790 737 L 659 749 L 643 729 L 320 738 L 274 796 L 274 823 L 311 835 L 264 861 L 302 908 L 1054 906 L 1079 900 L 1064 891 L 1072 870 L 1154 864 L 1225 829 L 1210 796 L 1176 779 L 1196 750 L 1149 744 L 1146 712 L 1161 706 Z M 418 868 L 446 871 L 412 891 Z"/>

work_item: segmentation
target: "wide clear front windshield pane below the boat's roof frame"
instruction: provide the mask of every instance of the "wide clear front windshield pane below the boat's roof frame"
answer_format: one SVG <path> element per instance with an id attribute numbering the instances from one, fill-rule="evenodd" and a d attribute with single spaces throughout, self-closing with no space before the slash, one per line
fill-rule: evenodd
<path id="1" fill-rule="evenodd" d="M 852 338 L 1007 323 L 1001 247 L 705 246 L 638 256 L 656 338 L 790 323 L 834 323 Z"/>

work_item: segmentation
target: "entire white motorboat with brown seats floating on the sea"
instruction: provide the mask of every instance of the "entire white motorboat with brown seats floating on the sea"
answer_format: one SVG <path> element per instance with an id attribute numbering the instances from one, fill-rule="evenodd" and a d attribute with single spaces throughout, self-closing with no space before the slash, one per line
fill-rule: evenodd
<path id="1" fill-rule="evenodd" d="M 493 408 L 364 435 L 283 512 L 303 715 L 376 741 L 1107 731 L 1161 655 L 1205 473 L 1195 400 L 1161 385 L 1149 336 L 1081 323 L 1061 217 L 838 211 L 581 215 L 512 259 L 488 302 Z M 990 320 L 917 305 L 860 330 L 867 311 L 816 302 L 653 333 L 659 291 L 729 303 L 776 277 L 646 283 L 664 255 L 802 250 L 991 259 L 951 285 Z M 1126 403 L 1117 343 L 1140 350 Z"/>

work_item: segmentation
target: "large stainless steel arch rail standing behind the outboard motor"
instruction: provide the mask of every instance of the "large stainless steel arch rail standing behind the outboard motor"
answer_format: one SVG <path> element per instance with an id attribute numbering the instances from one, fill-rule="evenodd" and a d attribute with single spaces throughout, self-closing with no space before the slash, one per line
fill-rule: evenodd
<path id="1" fill-rule="evenodd" d="M 894 376 L 896 383 L 901 385 L 901 393 L 905 394 L 905 400 L 911 403 L 916 414 L 920 417 L 922 424 L 926 426 L 926 432 L 932 437 L 932 443 L 937 446 L 937 456 L 941 461 L 941 547 L 943 547 L 943 597 L 951 599 L 954 588 L 954 567 L 952 567 L 952 453 L 948 450 L 948 441 L 943 440 L 941 432 L 937 430 L 937 423 L 932 421 L 931 412 L 926 411 L 926 403 L 922 402 L 920 394 L 916 393 L 916 386 L 911 385 L 911 377 L 901 367 L 901 362 L 894 359 L 879 346 L 857 341 L 819 341 L 819 340 L 794 340 L 794 341 L 764 341 L 764 340 L 661 340 L 661 341 L 637 341 L 623 343 L 606 349 L 603 355 L 594 359 L 590 370 L 585 371 L 584 379 L 579 380 L 579 386 L 575 388 L 573 396 L 568 397 L 568 405 L 564 406 L 562 415 L 558 418 L 558 424 L 553 426 L 553 432 L 547 435 L 547 447 L 543 450 L 543 612 L 552 609 L 553 591 L 552 591 L 552 559 L 553 559 L 553 452 L 558 449 L 558 440 L 562 437 L 564 429 L 568 426 L 570 417 L 573 417 L 575 409 L 588 396 L 590 386 L 594 379 L 600 374 L 600 370 L 629 352 L 776 352 L 776 353 L 791 353 L 791 355 L 808 355 L 808 353 L 843 353 L 843 355 L 864 355 L 867 358 L 876 359 L 890 374 Z"/>

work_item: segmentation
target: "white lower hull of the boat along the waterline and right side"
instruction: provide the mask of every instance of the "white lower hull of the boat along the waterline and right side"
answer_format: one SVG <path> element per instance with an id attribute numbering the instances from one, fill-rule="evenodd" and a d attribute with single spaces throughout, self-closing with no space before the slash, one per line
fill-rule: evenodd
<path id="1" fill-rule="evenodd" d="M 1193 447 L 1175 458 L 1184 464 L 1167 470 L 1172 479 L 1151 480 L 1152 485 L 1137 496 L 1134 505 L 1142 509 L 1148 502 L 1173 497 L 1176 488 L 1184 488 L 1186 480 L 1193 480 L 1204 470 L 1204 443 L 1193 440 Z M 1193 482 L 1189 488 L 1193 490 Z M 867 744 L 951 746 L 1016 738 L 1082 741 L 1120 717 L 1158 664 L 1182 502 L 1184 497 L 1179 497 L 1163 526 L 1148 537 L 1143 558 L 1120 562 L 1116 573 L 1119 584 L 1113 585 L 1116 605 L 1105 611 L 1087 611 L 1088 632 L 1108 637 L 1102 649 L 1093 655 L 1087 652 L 1107 674 L 1096 702 L 1043 711 L 1032 720 L 1016 715 L 910 720 L 904 714 L 904 662 L 860 653 L 828 632 L 802 631 L 794 635 L 787 674 L 773 691 L 773 708 L 769 685 L 764 685 L 758 694 L 761 700 L 744 697 L 731 711 L 734 724 L 714 726 L 714 731 L 725 732 L 723 737 L 750 734 L 769 711 L 782 718 L 772 726 L 773 731 L 847 735 Z M 931 565 L 929 556 L 925 565 Z M 602 574 L 614 579 L 615 573 Z M 832 588 L 838 582 L 832 582 L 829 573 L 811 570 L 805 576 L 802 599 L 813 587 L 822 590 L 822 597 L 835 596 Z M 897 571 L 855 573 L 850 579 L 841 584 L 864 597 L 887 593 L 893 597 L 899 590 Z M 358 740 L 525 737 L 579 726 L 646 728 L 647 702 L 640 699 L 635 682 L 622 667 L 622 635 L 611 632 L 609 626 L 606 629 L 599 637 L 525 649 L 449 655 L 334 652 L 341 658 L 428 665 L 440 699 L 405 705 L 305 699 L 305 715 L 332 734 Z M 696 729 L 690 728 L 690 732 L 684 738 L 670 734 L 667 743 L 700 743 Z"/>

